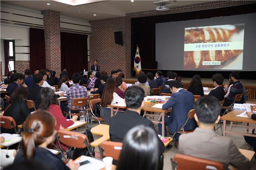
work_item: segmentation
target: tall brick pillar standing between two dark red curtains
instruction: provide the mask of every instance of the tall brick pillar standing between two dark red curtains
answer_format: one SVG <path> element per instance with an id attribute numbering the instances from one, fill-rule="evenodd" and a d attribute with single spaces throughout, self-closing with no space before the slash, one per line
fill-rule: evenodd
<path id="1" fill-rule="evenodd" d="M 46 68 L 61 74 L 61 19 L 60 12 L 41 11 L 44 20 Z"/>

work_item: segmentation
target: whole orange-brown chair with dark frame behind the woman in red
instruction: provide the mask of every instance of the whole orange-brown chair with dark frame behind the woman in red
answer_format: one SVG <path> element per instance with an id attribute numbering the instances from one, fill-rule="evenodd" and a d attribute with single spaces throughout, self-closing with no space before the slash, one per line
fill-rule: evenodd
<path id="1" fill-rule="evenodd" d="M 74 132 L 74 131 L 59 130 L 57 131 L 56 138 L 57 138 L 57 143 L 59 145 L 63 158 L 64 158 L 64 153 L 67 153 L 72 148 L 86 148 L 86 147 L 88 147 L 90 156 L 94 157 L 93 148 L 90 147 L 90 143 L 86 135 L 79 132 Z M 61 143 L 65 144 L 68 147 L 67 150 L 61 147 Z"/>

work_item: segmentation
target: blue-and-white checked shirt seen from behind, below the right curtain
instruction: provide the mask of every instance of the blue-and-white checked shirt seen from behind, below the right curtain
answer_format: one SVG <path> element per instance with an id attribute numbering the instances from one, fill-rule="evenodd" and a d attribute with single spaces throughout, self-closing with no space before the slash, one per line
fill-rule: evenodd
<path id="1" fill-rule="evenodd" d="M 67 107 L 71 109 L 81 109 L 80 107 L 71 106 L 71 100 L 74 98 L 86 98 L 87 89 L 79 84 L 74 84 L 72 87 L 67 89 Z"/>

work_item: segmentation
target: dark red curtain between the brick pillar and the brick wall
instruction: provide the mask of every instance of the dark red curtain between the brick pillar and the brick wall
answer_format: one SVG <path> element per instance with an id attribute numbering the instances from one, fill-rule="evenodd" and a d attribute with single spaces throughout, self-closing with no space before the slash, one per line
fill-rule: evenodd
<path id="1" fill-rule="evenodd" d="M 75 72 L 88 70 L 88 35 L 61 32 L 61 70 L 67 69 L 68 77 Z"/>

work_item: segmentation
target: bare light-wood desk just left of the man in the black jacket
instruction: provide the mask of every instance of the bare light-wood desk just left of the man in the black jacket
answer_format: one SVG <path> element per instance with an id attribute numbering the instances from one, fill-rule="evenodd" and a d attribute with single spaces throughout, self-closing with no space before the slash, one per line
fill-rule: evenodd
<path id="1" fill-rule="evenodd" d="M 91 143 L 91 146 L 97 147 L 102 142 L 110 139 L 109 136 L 109 125 L 107 124 L 99 124 L 91 129 L 92 134 L 101 135 L 102 137 L 98 138 L 94 142 Z"/>

